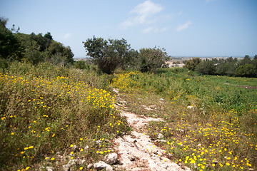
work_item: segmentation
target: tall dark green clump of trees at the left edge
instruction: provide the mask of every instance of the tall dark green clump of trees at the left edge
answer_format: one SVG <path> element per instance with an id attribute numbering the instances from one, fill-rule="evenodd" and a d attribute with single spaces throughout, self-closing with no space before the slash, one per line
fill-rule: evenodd
<path id="1" fill-rule="evenodd" d="M 74 63 L 74 53 L 69 46 L 54 41 L 51 33 L 19 33 L 19 28 L 6 28 L 8 19 L 0 18 L 0 57 L 4 60 L 17 60 L 32 63 L 50 62 L 58 65 Z"/>

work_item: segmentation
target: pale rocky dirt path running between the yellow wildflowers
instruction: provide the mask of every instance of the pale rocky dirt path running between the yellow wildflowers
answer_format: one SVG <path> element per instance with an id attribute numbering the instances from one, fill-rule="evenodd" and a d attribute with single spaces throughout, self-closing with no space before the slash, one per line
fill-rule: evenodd
<path id="1" fill-rule="evenodd" d="M 118 91 L 116 90 L 116 93 Z M 154 145 L 148 135 L 143 133 L 150 121 L 163 121 L 161 118 L 138 117 L 134 113 L 121 112 L 127 118 L 129 125 L 133 128 L 131 135 L 124 135 L 114 140 L 118 150 L 119 160 L 122 165 L 119 168 L 126 170 L 190 170 L 171 162 L 164 156 L 164 150 Z"/>

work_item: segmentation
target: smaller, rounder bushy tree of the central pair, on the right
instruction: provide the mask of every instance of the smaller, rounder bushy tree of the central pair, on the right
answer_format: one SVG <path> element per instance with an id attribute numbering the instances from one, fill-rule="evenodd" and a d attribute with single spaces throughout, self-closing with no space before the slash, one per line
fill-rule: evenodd
<path id="1" fill-rule="evenodd" d="M 170 56 L 161 48 L 141 48 L 138 54 L 138 67 L 141 72 L 155 71 L 157 68 L 167 67 L 166 61 Z"/>

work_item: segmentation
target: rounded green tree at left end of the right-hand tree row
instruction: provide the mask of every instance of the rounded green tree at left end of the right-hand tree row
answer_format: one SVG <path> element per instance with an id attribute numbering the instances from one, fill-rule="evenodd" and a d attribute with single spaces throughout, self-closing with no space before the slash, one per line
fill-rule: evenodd
<path id="1" fill-rule="evenodd" d="M 213 75 L 215 73 L 215 69 L 213 61 L 203 61 L 196 66 L 196 71 L 198 73 L 207 75 Z"/>

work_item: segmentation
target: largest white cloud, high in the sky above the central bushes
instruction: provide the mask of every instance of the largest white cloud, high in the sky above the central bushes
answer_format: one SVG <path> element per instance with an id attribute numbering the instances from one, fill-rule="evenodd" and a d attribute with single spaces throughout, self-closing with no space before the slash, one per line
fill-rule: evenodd
<path id="1" fill-rule="evenodd" d="M 151 24 L 156 21 L 153 19 L 153 16 L 162 10 L 163 6 L 154 4 L 149 0 L 144 1 L 142 4 L 138 4 L 130 11 L 131 14 L 136 14 L 136 16 L 131 17 L 121 23 L 120 28 L 127 29 L 138 24 Z"/>

